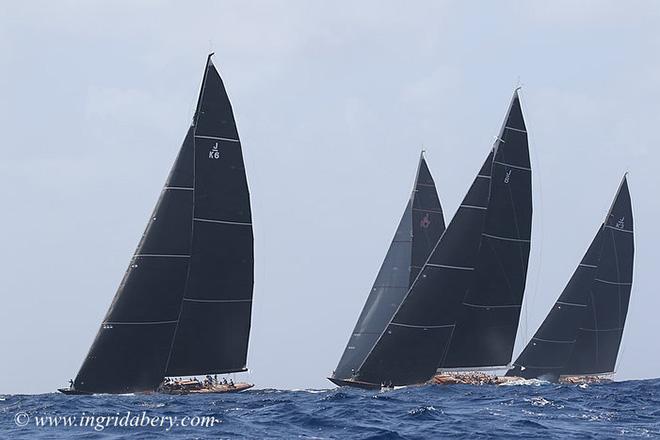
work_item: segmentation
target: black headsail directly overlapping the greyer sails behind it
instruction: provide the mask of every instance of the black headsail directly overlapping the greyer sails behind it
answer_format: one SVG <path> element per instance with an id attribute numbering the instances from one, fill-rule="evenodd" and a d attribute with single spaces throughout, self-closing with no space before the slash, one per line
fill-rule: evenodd
<path id="1" fill-rule="evenodd" d="M 433 376 L 472 278 L 488 203 L 491 152 L 419 276 L 354 381 L 422 383 Z"/>

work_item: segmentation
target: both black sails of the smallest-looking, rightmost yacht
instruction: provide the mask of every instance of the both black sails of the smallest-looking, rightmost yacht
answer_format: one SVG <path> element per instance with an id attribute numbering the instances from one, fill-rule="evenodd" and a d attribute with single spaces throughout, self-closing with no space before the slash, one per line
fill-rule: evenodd
<path id="1" fill-rule="evenodd" d="M 507 376 L 613 373 L 630 302 L 633 216 L 624 176 L 586 254 Z"/>

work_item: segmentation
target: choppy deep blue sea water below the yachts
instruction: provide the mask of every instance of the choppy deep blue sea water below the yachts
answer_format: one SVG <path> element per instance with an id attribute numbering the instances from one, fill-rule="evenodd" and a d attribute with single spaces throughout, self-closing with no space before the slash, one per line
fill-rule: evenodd
<path id="1" fill-rule="evenodd" d="M 0 399 L 3 439 L 660 438 L 660 380 Z M 188 426 L 195 423 L 206 426 Z"/>

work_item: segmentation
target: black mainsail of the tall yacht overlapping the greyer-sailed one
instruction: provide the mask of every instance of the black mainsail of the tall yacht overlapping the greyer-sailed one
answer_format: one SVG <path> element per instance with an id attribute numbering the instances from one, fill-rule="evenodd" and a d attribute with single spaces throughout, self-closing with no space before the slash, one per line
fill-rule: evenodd
<path id="1" fill-rule="evenodd" d="M 503 366 L 511 361 L 532 230 L 529 145 L 517 91 L 496 142 L 491 173 L 474 277 L 441 368 Z"/>

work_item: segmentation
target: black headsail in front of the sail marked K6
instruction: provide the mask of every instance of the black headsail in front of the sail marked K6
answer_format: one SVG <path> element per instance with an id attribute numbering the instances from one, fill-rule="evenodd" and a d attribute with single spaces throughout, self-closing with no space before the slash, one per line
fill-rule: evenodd
<path id="1" fill-rule="evenodd" d="M 146 391 L 163 379 L 188 275 L 193 150 L 191 128 L 76 376 L 77 391 Z"/>

